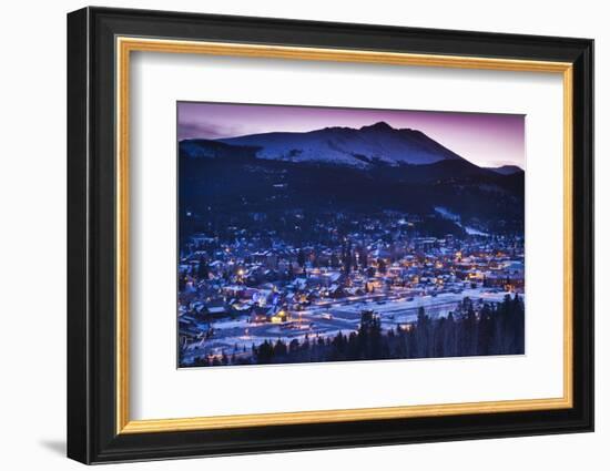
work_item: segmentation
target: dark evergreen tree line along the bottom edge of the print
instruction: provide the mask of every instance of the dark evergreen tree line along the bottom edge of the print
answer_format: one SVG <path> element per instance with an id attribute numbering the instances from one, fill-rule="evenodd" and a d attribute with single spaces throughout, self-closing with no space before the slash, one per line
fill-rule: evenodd
<path id="1" fill-rule="evenodd" d="M 234 349 L 221 357 L 201 357 L 194 366 L 268 365 L 405 358 L 444 358 L 525 352 L 525 308 L 520 296 L 484 303 L 478 309 L 464 298 L 446 317 L 431 318 L 423 307 L 417 320 L 382 329 L 373 311 L 363 311 L 357 331 L 334 337 L 305 336 L 265 340 L 251 349 Z"/>

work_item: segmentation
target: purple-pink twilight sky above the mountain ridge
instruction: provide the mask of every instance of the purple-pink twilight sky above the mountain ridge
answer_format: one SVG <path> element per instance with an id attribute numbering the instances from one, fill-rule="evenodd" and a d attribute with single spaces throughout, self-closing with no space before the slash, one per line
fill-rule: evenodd
<path id="1" fill-rule="evenodd" d="M 410 127 L 479 166 L 525 168 L 525 116 L 520 114 L 365 110 L 179 102 L 177 137 L 221 139 L 327 126 L 362 127 L 385 121 Z"/>

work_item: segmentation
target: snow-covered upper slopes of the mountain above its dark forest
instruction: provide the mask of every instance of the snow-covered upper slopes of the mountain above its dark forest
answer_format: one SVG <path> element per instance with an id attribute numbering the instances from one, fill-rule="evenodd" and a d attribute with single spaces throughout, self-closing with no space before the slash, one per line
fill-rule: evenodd
<path id="1" fill-rule="evenodd" d="M 252 152 L 257 158 L 283 162 L 317 162 L 369 167 L 372 165 L 425 165 L 464 161 L 420 131 L 394 129 L 379 122 L 360 129 L 325 127 L 309 132 L 274 132 L 215 141 L 182 141 L 191 156 L 221 156 L 221 144 Z"/>

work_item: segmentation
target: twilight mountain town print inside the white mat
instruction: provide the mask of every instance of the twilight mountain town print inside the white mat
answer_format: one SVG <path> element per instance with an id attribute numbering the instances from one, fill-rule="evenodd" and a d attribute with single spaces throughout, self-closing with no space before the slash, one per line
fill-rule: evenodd
<path id="1" fill-rule="evenodd" d="M 179 368 L 526 354 L 526 115 L 179 101 L 176 133 Z"/>

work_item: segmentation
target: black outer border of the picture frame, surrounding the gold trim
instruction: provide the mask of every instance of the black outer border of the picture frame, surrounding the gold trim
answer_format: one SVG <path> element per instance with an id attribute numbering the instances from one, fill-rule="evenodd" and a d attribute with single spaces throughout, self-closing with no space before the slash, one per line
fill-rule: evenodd
<path id="1" fill-rule="evenodd" d="M 116 434 L 114 73 L 118 35 L 571 62 L 573 408 Z M 70 458 L 101 463 L 592 431 L 592 40 L 85 8 L 68 16 L 68 130 Z"/>

